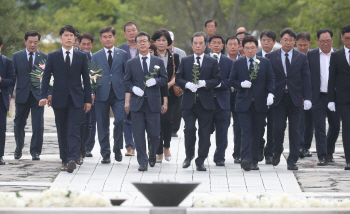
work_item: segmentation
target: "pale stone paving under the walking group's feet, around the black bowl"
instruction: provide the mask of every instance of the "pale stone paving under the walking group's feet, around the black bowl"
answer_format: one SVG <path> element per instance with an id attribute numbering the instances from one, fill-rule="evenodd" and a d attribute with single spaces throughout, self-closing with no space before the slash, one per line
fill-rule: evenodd
<path id="1" fill-rule="evenodd" d="M 274 167 L 259 163 L 260 170 L 245 172 L 239 164 L 233 163 L 233 130 L 232 121 L 229 129 L 229 145 L 226 150 L 226 166 L 217 167 L 213 162 L 215 151 L 215 134 L 211 136 L 211 148 L 205 162 L 206 172 L 196 171 L 194 161 L 192 166 L 183 169 L 185 159 L 183 123 L 178 132 L 179 136 L 172 138 L 170 162 L 163 160 L 155 167 L 149 167 L 146 172 L 139 172 L 136 156 L 123 156 L 122 162 L 114 160 L 111 164 L 101 164 L 99 144 L 96 140 L 92 158 L 85 158 L 84 164 L 74 173 L 59 172 L 61 161 L 58 155 L 56 127 L 52 109 L 45 110 L 44 147 L 40 161 L 32 161 L 29 154 L 31 137 L 31 121 L 27 121 L 25 148 L 23 157 L 14 160 L 15 140 L 13 135 L 13 117 L 7 121 L 7 138 L 5 146 L 5 166 L 0 168 L 0 192 L 20 191 L 23 194 L 38 192 L 48 188 L 65 188 L 70 190 L 87 190 L 100 192 L 110 198 L 125 198 L 122 206 L 151 206 L 132 185 L 133 181 L 177 181 L 201 182 L 195 191 L 183 201 L 180 206 L 191 206 L 193 200 L 201 197 L 237 193 L 242 195 L 261 194 L 267 197 L 287 193 L 297 198 L 349 198 L 350 172 L 343 169 L 345 165 L 341 136 L 336 144 L 332 165 L 317 166 L 315 142 L 312 144 L 312 158 L 298 161 L 298 171 L 288 171 L 285 158 Z M 111 123 L 113 124 L 113 123 Z M 112 128 L 112 127 L 111 127 Z M 111 132 L 112 133 L 112 132 Z M 288 133 L 286 132 L 286 135 Z M 112 136 L 111 136 L 112 137 Z M 113 139 L 111 138 L 111 142 Z M 288 156 L 288 139 L 285 139 L 284 156 Z M 122 151 L 122 153 L 125 153 Z"/>

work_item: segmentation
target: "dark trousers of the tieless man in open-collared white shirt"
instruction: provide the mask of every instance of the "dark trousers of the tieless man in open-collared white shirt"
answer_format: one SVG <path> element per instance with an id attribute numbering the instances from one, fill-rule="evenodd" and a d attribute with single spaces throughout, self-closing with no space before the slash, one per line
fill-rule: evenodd
<path id="1" fill-rule="evenodd" d="M 318 101 L 312 106 L 312 113 L 315 124 L 317 156 L 319 159 L 332 156 L 340 131 L 340 116 L 338 111 L 333 112 L 328 109 L 327 94 L 321 93 Z M 326 117 L 328 117 L 329 124 L 327 135 Z"/>

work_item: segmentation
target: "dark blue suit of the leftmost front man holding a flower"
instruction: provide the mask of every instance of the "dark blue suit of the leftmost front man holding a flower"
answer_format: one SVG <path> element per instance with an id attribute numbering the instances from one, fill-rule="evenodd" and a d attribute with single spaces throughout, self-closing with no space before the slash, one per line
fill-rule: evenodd
<path id="1" fill-rule="evenodd" d="M 163 60 L 153 55 L 150 56 L 149 72 L 153 72 L 156 65 L 160 67 L 157 75 L 154 76 L 156 85 L 145 88 L 145 75 L 138 55 L 127 62 L 124 77 L 127 92 L 131 94 L 130 114 L 139 165 L 148 164 L 145 131 L 147 131 L 150 156 L 156 156 L 160 140 L 160 112 L 162 110 L 160 87 L 168 83 Z M 141 90 L 144 89 L 145 95 L 139 97 L 134 94 L 132 92 L 134 86 Z"/>

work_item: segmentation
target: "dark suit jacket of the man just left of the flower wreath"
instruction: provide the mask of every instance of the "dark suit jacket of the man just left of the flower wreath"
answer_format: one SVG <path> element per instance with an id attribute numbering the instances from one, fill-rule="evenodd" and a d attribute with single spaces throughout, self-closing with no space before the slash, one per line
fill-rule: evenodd
<path id="1" fill-rule="evenodd" d="M 34 65 L 39 65 L 39 62 L 43 59 L 47 59 L 47 55 L 41 51 L 35 51 Z M 32 90 L 35 99 L 40 101 L 40 89 L 34 87 L 31 81 L 30 73 L 32 71 L 29 70 L 26 49 L 14 53 L 12 55 L 12 62 L 17 79 L 16 103 L 27 102 L 30 90 Z M 34 65 L 33 70 L 35 69 Z"/>

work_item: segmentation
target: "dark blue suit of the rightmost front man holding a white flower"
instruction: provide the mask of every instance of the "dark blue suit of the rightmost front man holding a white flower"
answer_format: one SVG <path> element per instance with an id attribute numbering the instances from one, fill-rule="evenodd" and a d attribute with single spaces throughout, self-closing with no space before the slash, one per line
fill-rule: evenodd
<path id="1" fill-rule="evenodd" d="M 256 79 L 251 88 L 242 88 L 241 83 L 250 81 L 247 57 L 233 63 L 229 83 L 238 89 L 235 111 L 238 112 L 241 125 L 241 159 L 252 164 L 258 163 L 258 150 L 261 130 L 268 112 L 267 95 L 274 94 L 275 82 L 271 63 L 268 59 L 257 56 L 260 60 Z"/>

